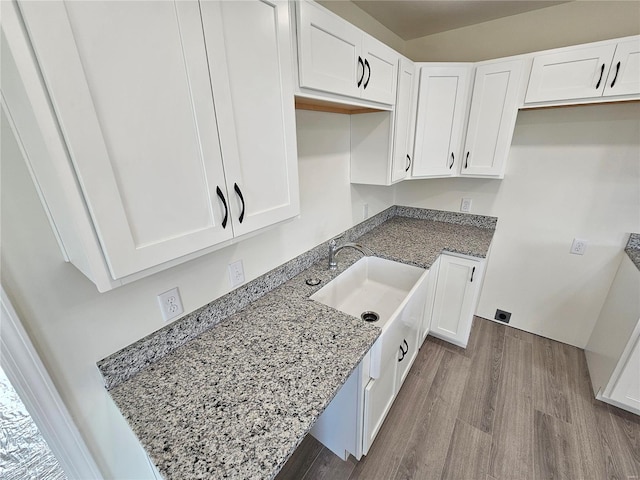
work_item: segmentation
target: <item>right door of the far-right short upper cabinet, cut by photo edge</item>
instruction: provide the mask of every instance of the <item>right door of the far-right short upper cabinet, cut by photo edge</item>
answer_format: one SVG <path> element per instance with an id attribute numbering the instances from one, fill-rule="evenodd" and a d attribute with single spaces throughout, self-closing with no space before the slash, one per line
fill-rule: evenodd
<path id="1" fill-rule="evenodd" d="M 640 93 L 640 38 L 620 42 L 609 69 L 604 96 Z"/>

